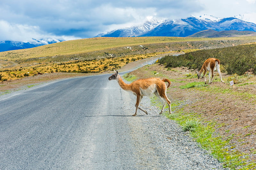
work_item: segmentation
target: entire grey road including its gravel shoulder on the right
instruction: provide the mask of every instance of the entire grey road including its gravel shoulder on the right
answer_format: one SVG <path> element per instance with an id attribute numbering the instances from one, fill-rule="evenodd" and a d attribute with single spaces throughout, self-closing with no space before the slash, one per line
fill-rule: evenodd
<path id="1" fill-rule="evenodd" d="M 1 96 L 0 169 L 221 169 L 148 98 L 132 117 L 135 96 L 109 76 Z"/>

